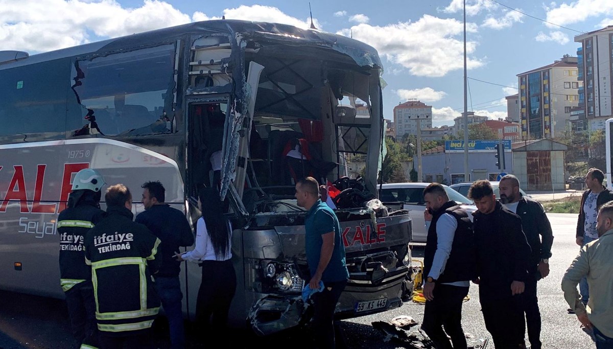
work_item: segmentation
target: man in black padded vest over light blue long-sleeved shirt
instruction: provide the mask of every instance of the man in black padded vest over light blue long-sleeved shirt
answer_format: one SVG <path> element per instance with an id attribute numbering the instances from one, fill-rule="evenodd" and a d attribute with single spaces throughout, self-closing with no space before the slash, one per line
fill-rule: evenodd
<path id="1" fill-rule="evenodd" d="M 473 223 L 466 210 L 450 201 L 445 188 L 438 183 L 424 189 L 424 201 L 428 237 L 424 252 L 427 279 L 422 329 L 437 349 L 466 348 L 462 302 L 470 280 L 476 275 Z"/>

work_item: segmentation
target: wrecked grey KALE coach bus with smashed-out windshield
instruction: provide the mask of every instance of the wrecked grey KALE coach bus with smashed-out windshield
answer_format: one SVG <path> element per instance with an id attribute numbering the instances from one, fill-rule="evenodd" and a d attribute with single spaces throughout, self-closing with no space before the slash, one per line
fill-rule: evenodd
<path id="1" fill-rule="evenodd" d="M 336 211 L 350 279 L 337 316 L 399 307 L 411 220 L 365 205 L 383 158 L 380 73 L 377 52 L 348 37 L 234 20 L 0 51 L 0 288 L 63 297 L 56 220 L 75 173 L 92 167 L 131 188 L 135 213 L 148 180 L 192 222 L 197 188 L 219 188 L 235 227 L 231 323 L 297 326 L 309 312 L 294 183 L 314 175 L 346 186 Z M 350 156 L 365 159 L 361 181 L 343 178 Z M 183 264 L 186 314 L 200 275 Z"/>

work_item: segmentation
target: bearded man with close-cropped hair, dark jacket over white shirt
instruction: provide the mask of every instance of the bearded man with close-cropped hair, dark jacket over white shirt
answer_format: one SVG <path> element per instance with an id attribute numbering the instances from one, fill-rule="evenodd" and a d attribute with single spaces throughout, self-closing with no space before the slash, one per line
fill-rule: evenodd
<path id="1" fill-rule="evenodd" d="M 543 205 L 519 192 L 519 180 L 514 175 L 505 175 L 498 185 L 500 202 L 522 218 L 522 229 L 532 249 L 528 265 L 528 278 L 524 290 L 524 312 L 531 349 L 541 349 L 541 312 L 538 309 L 536 282 L 549 275 L 549 257 L 554 234 Z"/>

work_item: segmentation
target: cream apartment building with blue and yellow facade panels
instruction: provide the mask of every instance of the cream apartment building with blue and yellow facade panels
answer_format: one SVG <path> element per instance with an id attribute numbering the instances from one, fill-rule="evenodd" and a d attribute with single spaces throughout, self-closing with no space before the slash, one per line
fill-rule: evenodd
<path id="1" fill-rule="evenodd" d="M 562 137 L 579 104 L 577 57 L 517 74 L 523 139 Z"/>

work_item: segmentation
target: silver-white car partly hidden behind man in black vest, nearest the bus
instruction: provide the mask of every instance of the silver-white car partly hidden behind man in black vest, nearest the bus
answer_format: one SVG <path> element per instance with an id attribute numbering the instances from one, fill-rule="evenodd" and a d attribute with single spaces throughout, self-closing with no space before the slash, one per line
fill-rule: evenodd
<path id="1" fill-rule="evenodd" d="M 403 209 L 409 210 L 413 220 L 413 242 L 425 242 L 428 231 L 425 229 L 424 220 L 424 188 L 430 183 L 388 183 L 379 189 L 379 199 L 382 202 L 403 202 Z M 462 205 L 468 217 L 473 220 L 472 213 L 477 207 L 468 198 L 457 191 L 443 185 L 450 200 Z"/>

